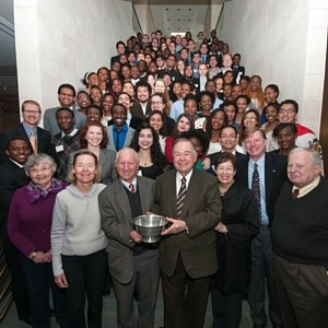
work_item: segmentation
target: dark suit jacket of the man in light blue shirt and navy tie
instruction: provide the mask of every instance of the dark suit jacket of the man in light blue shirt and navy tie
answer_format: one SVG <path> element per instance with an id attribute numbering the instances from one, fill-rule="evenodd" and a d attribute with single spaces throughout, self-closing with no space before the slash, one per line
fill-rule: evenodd
<path id="1" fill-rule="evenodd" d="M 266 206 L 269 216 L 269 224 L 273 220 L 276 200 L 280 194 L 282 185 L 286 180 L 286 157 L 283 155 L 265 154 L 265 179 L 266 179 Z M 249 156 L 238 161 L 236 180 L 248 188 L 248 162 Z"/>

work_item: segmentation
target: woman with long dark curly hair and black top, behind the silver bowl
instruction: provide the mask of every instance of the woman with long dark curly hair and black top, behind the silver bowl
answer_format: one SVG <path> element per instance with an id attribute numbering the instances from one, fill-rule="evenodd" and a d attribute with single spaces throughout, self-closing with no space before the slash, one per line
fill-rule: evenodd
<path id="1" fill-rule="evenodd" d="M 155 179 L 164 172 L 166 161 L 161 151 L 159 136 L 148 122 L 137 129 L 130 147 L 138 153 L 138 175 Z"/>

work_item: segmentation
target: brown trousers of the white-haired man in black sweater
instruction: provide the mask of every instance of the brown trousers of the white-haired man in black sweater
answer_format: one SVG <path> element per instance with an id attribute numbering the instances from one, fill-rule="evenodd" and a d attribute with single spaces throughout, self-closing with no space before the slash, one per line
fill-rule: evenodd
<path id="1" fill-rule="evenodd" d="M 283 327 L 328 327 L 327 268 L 293 263 L 272 255 Z"/>

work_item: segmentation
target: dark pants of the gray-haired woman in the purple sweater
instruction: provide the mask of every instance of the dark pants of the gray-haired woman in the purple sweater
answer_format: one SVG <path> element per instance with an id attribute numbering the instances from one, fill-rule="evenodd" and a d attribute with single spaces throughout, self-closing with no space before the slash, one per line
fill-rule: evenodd
<path id="1" fill-rule="evenodd" d="M 55 284 L 51 262 L 35 263 L 24 255 L 20 255 L 20 258 L 27 282 L 32 326 L 50 327 L 49 290 L 51 288 L 56 320 L 61 328 L 69 328 L 66 293 Z"/>

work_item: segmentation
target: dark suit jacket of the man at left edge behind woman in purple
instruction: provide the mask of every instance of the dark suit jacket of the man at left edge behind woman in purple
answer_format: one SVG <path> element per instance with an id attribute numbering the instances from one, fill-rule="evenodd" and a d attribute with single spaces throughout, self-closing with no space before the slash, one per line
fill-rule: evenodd
<path id="1" fill-rule="evenodd" d="M 0 166 L 0 238 L 9 241 L 7 235 L 7 220 L 11 199 L 14 192 L 27 185 L 30 178 L 23 167 L 10 160 Z"/>

